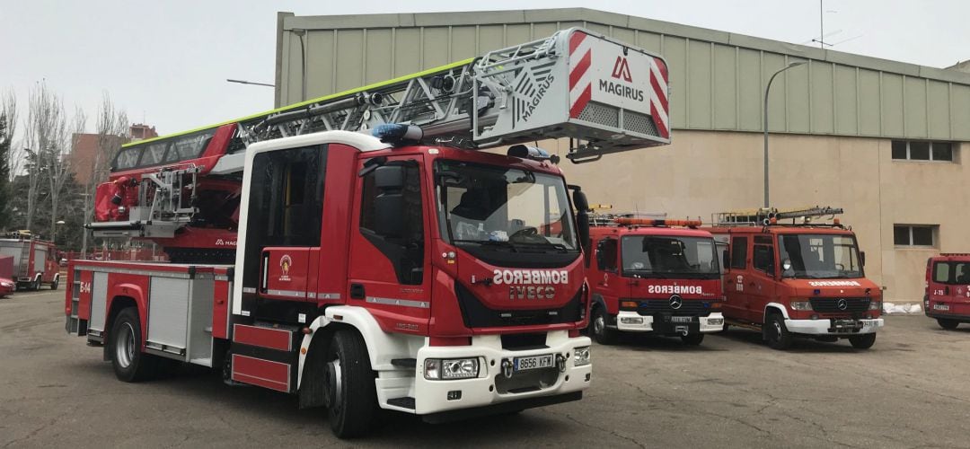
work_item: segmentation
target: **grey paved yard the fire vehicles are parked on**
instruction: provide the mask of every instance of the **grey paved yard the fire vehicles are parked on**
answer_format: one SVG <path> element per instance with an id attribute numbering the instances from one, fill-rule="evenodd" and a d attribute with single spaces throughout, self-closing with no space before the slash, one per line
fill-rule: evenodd
<path id="1" fill-rule="evenodd" d="M 349 446 L 319 411 L 195 372 L 114 379 L 64 334 L 62 292 L 0 299 L 2 447 Z M 748 331 L 594 348 L 583 401 L 449 425 L 397 417 L 361 446 L 967 447 L 970 326 L 890 317 L 875 347 L 802 341 L 778 352 Z"/>

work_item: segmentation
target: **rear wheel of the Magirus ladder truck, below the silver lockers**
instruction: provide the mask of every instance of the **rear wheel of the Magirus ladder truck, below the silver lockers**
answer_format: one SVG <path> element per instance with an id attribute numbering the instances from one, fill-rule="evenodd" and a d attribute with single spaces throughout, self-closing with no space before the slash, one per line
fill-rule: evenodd
<path id="1" fill-rule="evenodd" d="M 114 318 L 108 354 L 118 380 L 139 382 L 155 374 L 158 358 L 142 352 L 142 325 L 135 307 L 121 310 Z"/>

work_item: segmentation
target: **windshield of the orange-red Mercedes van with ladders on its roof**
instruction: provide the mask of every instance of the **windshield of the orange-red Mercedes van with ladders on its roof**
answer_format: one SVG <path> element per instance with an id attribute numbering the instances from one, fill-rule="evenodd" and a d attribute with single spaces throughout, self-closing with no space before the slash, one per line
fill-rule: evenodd
<path id="1" fill-rule="evenodd" d="M 785 277 L 863 277 L 853 236 L 783 234 L 778 248 Z"/>

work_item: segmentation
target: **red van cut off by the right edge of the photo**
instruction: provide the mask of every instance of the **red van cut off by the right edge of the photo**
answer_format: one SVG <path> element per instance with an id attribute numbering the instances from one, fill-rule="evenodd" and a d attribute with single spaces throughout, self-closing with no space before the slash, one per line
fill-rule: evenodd
<path id="1" fill-rule="evenodd" d="M 943 253 L 926 260 L 922 305 L 943 329 L 970 323 L 970 254 Z"/>

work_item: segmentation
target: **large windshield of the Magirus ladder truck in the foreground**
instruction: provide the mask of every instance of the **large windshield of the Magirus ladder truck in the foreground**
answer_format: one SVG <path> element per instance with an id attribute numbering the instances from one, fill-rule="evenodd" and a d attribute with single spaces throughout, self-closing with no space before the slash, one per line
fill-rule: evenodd
<path id="1" fill-rule="evenodd" d="M 440 160 L 442 237 L 454 243 L 578 251 L 560 176 Z"/>

